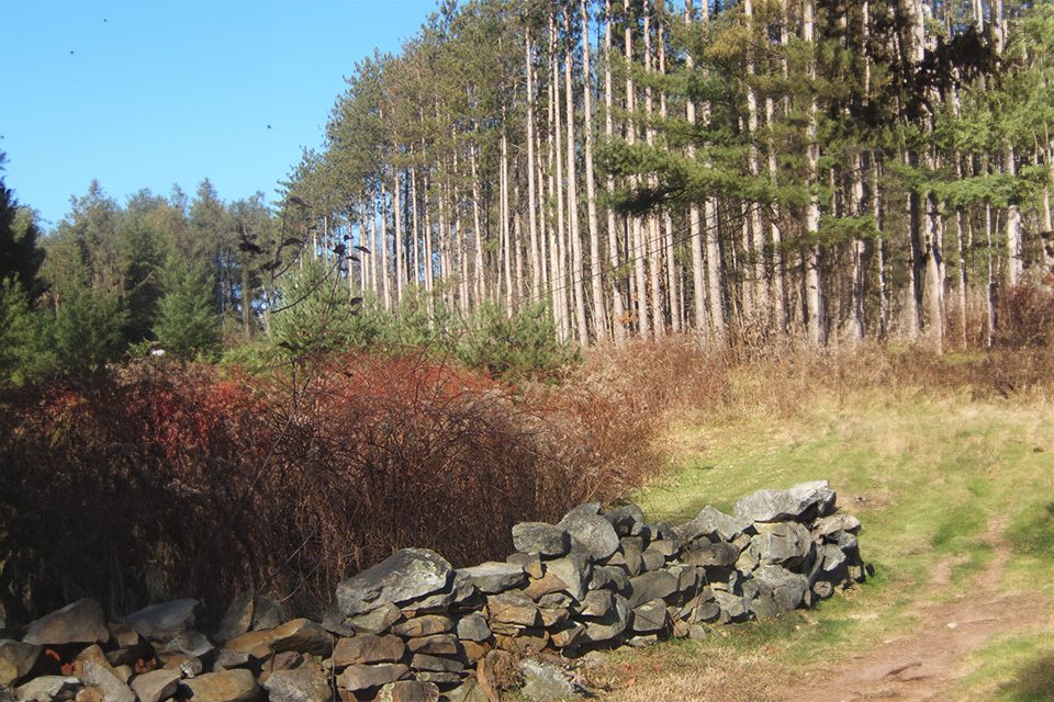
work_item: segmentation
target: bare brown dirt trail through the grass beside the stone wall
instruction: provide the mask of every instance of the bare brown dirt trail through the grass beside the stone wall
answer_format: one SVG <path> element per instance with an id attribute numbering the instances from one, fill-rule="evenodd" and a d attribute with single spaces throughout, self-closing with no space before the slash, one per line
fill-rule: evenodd
<path id="1" fill-rule="evenodd" d="M 863 700 L 954 700 L 955 682 L 971 670 L 968 657 L 990 638 L 1050 626 L 1049 602 L 1038 596 L 999 593 L 1010 546 L 991 524 L 984 540 L 994 556 L 974 576 L 966 593 L 953 600 L 920 602 L 917 624 L 899 636 L 868 647 L 836 668 L 800 679 L 781 694 L 787 702 Z M 937 565 L 930 589 L 951 582 L 954 559 Z"/>

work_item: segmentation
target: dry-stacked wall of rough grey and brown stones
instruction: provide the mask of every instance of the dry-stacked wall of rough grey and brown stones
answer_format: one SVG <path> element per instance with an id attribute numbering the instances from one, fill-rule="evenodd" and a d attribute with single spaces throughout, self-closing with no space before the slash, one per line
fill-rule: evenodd
<path id="1" fill-rule="evenodd" d="M 117 623 L 80 600 L 21 642 L 0 641 L 0 701 L 480 699 L 494 697 L 483 665 L 493 652 L 523 660 L 526 689 L 556 684 L 561 697 L 570 682 L 532 656 L 703 637 L 862 580 L 860 521 L 834 500 L 826 482 L 807 483 L 755 492 L 731 516 L 706 507 L 675 528 L 648 523 L 633 505 L 581 505 L 557 524 L 514 526 L 505 562 L 455 569 L 435 552 L 402 550 L 340 582 L 338 612 L 321 623 L 237 598 L 211 638 L 197 629 L 197 600 Z"/>

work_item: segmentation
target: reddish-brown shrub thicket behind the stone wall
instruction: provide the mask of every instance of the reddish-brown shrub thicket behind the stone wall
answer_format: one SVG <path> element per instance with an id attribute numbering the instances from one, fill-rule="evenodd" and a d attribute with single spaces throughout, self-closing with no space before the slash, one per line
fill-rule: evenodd
<path id="1" fill-rule="evenodd" d="M 317 610 L 401 546 L 503 557 L 516 521 L 633 482 L 651 438 L 620 398 L 513 393 L 416 358 L 265 377 L 143 364 L 12 390 L 0 604 L 11 623 L 85 595 L 120 613 L 255 587 Z"/>

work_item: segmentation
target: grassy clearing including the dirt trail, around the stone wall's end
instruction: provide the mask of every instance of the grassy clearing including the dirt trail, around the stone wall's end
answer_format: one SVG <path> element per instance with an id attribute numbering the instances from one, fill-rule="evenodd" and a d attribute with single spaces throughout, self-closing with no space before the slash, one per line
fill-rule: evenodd
<path id="1" fill-rule="evenodd" d="M 683 421 L 637 497 L 676 523 L 827 478 L 863 522 L 865 585 L 772 622 L 598 658 L 607 699 L 1054 699 L 1054 406 L 868 390 L 792 416 Z"/>

